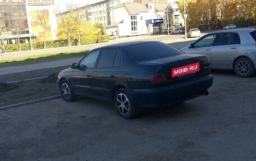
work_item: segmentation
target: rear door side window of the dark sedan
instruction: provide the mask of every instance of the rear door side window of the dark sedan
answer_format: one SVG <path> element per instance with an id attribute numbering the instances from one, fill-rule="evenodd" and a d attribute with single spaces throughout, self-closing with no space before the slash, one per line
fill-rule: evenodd
<path id="1" fill-rule="evenodd" d="M 115 49 L 103 49 L 99 56 L 98 68 L 113 67 L 117 50 Z"/>

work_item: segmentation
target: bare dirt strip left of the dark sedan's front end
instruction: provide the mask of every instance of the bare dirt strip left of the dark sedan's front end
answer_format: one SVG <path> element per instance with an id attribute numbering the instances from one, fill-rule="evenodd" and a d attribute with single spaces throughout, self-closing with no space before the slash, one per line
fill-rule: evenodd
<path id="1" fill-rule="evenodd" d="M 0 83 L 0 107 L 60 95 L 57 73 L 44 79 Z"/>

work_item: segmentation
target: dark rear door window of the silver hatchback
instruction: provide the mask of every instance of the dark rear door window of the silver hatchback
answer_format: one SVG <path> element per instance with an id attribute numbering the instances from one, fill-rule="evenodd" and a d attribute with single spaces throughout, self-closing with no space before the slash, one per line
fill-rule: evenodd
<path id="1" fill-rule="evenodd" d="M 216 45 L 240 44 L 240 37 L 237 33 L 222 33 L 216 40 Z"/>

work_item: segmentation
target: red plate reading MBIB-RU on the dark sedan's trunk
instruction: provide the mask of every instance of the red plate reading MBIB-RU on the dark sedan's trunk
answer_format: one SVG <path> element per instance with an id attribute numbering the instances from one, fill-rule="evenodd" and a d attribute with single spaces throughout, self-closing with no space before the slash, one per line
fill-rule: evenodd
<path id="1" fill-rule="evenodd" d="M 199 62 L 193 63 L 191 65 L 181 66 L 172 69 L 172 77 L 177 77 L 181 75 L 186 75 L 188 73 L 193 73 L 199 71 Z"/>

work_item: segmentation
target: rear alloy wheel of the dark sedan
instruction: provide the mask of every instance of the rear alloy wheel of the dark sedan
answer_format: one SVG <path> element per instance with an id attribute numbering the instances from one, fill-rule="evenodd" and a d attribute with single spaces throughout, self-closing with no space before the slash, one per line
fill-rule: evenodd
<path id="1" fill-rule="evenodd" d="M 126 89 L 119 89 L 116 91 L 114 104 L 117 113 L 122 118 L 130 119 L 138 116 L 139 114 L 139 107 L 135 105 Z"/>

